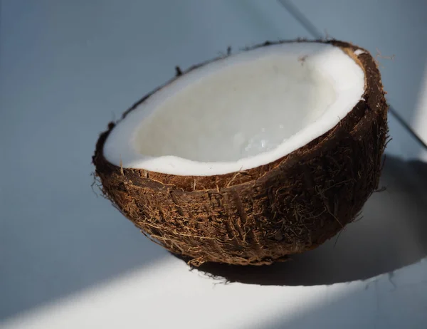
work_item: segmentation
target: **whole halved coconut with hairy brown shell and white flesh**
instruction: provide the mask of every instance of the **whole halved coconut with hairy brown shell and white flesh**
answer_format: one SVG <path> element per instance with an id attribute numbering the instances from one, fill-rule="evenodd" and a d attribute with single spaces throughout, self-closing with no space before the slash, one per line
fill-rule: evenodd
<path id="1" fill-rule="evenodd" d="M 177 68 L 100 135 L 95 173 L 142 233 L 195 266 L 272 263 L 361 211 L 378 186 L 387 109 L 368 51 L 267 42 Z"/>

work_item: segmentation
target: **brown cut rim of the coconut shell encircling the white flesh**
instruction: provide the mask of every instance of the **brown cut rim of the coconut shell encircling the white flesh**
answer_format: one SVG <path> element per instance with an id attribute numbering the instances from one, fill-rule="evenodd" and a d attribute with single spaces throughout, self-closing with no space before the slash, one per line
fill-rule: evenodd
<path id="1" fill-rule="evenodd" d="M 105 140 L 110 135 L 110 132 L 119 124 L 129 113 L 132 112 L 137 106 L 147 100 L 152 93 L 164 87 L 168 83 L 172 82 L 181 74 L 185 74 L 199 66 L 216 61 L 219 58 L 214 58 L 211 61 L 201 63 L 198 66 L 191 66 L 186 72 L 181 73 L 179 69 L 176 71 L 176 77 L 169 80 L 164 85 L 159 85 L 151 93 L 148 93 L 141 99 L 139 99 L 134 105 L 125 110 L 122 117 L 115 122 L 108 124 L 107 130 L 101 132 L 95 146 L 95 152 L 92 157 L 92 162 L 95 166 L 94 177 L 100 179 L 102 184 L 110 184 L 111 179 L 118 179 L 118 181 L 126 184 L 135 184 L 139 187 L 149 189 L 171 189 L 181 190 L 186 192 L 206 192 L 207 190 L 220 191 L 222 189 L 231 189 L 234 187 L 251 186 L 255 184 L 255 181 L 259 179 L 270 179 L 268 177 L 275 176 L 285 168 L 290 168 L 300 162 L 300 160 L 307 160 L 308 158 L 314 158 L 321 156 L 324 150 L 329 147 L 334 147 L 335 144 L 339 143 L 342 137 L 351 137 L 357 140 L 363 140 L 367 133 L 367 125 L 371 125 L 372 122 L 382 117 L 382 120 L 386 120 L 389 106 L 384 99 L 383 85 L 381 83 L 381 74 L 378 69 L 378 65 L 375 59 L 371 56 L 369 51 L 360 46 L 355 46 L 352 43 L 339 40 L 307 40 L 299 38 L 297 40 L 281 40 L 281 41 L 265 41 L 255 46 L 251 46 L 248 49 L 259 48 L 270 46 L 276 43 L 288 43 L 288 42 L 322 42 L 332 43 L 335 46 L 339 46 L 348 53 L 349 56 L 354 58 L 354 61 L 365 71 L 365 93 L 364 100 L 360 100 L 359 103 L 354 107 L 349 115 L 344 117 L 339 125 L 334 127 L 332 130 L 326 132 L 324 135 L 313 140 L 309 144 L 305 145 L 301 149 L 292 152 L 290 155 L 282 157 L 273 163 L 265 164 L 260 167 L 249 169 L 241 172 L 233 172 L 231 174 L 211 176 L 177 176 L 171 174 L 162 174 L 157 172 L 149 172 L 144 169 L 133 169 L 124 168 L 108 162 L 103 154 L 103 148 Z M 246 49 L 243 49 L 246 50 Z M 360 54 L 355 55 L 354 51 L 359 50 Z M 362 53 L 363 52 L 363 53 Z M 386 129 L 386 127 L 384 128 Z M 122 184 L 122 183 L 120 183 Z M 112 196 L 106 187 L 101 187 L 103 194 L 108 199 Z"/>

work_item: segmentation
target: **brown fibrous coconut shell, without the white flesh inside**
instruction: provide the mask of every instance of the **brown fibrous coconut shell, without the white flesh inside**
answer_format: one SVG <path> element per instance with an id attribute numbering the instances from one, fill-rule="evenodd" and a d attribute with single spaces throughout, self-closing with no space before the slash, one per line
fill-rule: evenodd
<path id="1" fill-rule="evenodd" d="M 295 152 L 243 172 L 176 176 L 108 162 L 103 147 L 114 122 L 97 141 L 93 164 L 105 196 L 144 235 L 194 266 L 261 265 L 314 249 L 349 224 L 378 187 L 388 105 L 376 61 L 364 49 L 355 56 L 361 48 L 342 41 L 278 41 L 255 48 L 284 42 L 331 43 L 365 73 L 362 100 L 332 130 Z"/>

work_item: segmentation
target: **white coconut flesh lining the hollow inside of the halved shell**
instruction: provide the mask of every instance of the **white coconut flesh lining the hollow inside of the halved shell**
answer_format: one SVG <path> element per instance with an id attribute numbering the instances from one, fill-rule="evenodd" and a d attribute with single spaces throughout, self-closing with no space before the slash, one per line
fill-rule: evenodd
<path id="1" fill-rule="evenodd" d="M 112 130 L 104 156 L 117 166 L 176 175 L 251 169 L 332 129 L 363 93 L 364 71 L 340 48 L 256 48 L 154 93 Z"/>

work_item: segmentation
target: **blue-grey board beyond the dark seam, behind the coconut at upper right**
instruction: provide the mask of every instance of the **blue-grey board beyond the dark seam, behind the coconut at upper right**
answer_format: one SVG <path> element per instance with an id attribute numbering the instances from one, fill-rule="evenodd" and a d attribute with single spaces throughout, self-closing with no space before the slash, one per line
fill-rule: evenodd
<path id="1" fill-rule="evenodd" d="M 427 143 L 427 1 L 287 1 L 325 36 L 377 56 L 390 103 Z"/>

